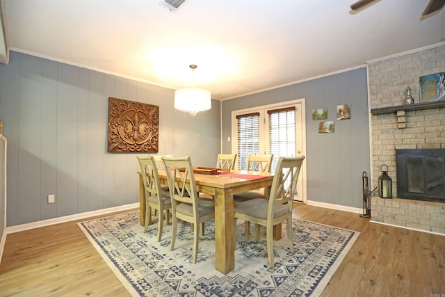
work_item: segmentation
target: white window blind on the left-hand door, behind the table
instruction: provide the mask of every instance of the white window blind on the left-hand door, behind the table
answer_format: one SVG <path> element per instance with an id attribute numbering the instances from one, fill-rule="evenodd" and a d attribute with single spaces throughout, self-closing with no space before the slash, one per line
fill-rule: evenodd
<path id="1" fill-rule="evenodd" d="M 244 170 L 248 154 L 259 154 L 259 113 L 236 115 L 238 125 L 238 169 Z"/>

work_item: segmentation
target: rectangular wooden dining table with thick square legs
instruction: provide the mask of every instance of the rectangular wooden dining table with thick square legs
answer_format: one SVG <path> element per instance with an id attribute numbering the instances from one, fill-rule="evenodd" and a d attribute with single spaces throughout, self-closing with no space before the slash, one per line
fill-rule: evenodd
<path id="1" fill-rule="evenodd" d="M 168 184 L 165 170 L 158 170 L 161 184 Z M 145 224 L 145 191 L 141 172 L 139 174 L 140 225 Z M 261 178 L 258 178 L 258 175 Z M 258 179 L 257 179 L 258 178 Z M 235 267 L 234 194 L 265 188 L 270 192 L 273 173 L 231 170 L 222 175 L 195 173 L 199 193 L 209 194 L 215 199 L 215 262 L 216 270 L 227 274 Z M 281 237 L 281 224 L 274 230 L 274 239 Z"/>

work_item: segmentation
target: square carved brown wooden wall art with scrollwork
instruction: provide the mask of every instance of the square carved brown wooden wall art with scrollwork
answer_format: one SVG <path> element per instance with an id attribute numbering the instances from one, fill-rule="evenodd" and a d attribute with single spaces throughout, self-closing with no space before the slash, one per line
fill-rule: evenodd
<path id="1" fill-rule="evenodd" d="M 108 152 L 158 152 L 159 106 L 108 98 Z"/>

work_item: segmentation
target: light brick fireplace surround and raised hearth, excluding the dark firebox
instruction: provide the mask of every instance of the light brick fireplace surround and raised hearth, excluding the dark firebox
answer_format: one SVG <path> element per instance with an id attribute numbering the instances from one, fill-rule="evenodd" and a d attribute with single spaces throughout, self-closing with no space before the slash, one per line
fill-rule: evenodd
<path id="1" fill-rule="evenodd" d="M 389 108 L 371 115 L 371 180 L 377 186 L 379 166 L 386 164 L 393 181 L 393 198 L 371 198 L 371 221 L 445 234 L 445 203 L 409 200 L 397 196 L 396 150 L 445 149 L 445 107 L 398 111 L 411 87 L 419 103 L 419 77 L 445 72 L 445 43 L 419 51 L 370 61 L 369 109 Z M 394 107 L 394 111 L 391 111 Z M 401 123 L 403 125 L 401 125 Z"/>

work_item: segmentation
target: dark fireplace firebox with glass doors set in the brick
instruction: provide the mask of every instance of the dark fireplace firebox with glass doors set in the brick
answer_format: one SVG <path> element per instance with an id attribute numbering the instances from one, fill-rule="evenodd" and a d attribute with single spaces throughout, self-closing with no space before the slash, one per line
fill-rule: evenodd
<path id="1" fill-rule="evenodd" d="M 396 150 L 397 196 L 445 203 L 445 150 Z"/>

